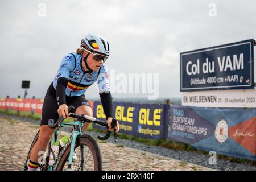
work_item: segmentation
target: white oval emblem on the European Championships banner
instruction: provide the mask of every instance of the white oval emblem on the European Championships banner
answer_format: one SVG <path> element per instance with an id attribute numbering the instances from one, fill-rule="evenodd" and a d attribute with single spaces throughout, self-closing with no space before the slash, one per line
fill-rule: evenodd
<path id="1" fill-rule="evenodd" d="M 216 125 L 215 138 L 220 143 L 224 143 L 228 139 L 228 123 L 224 119 L 221 119 Z"/>

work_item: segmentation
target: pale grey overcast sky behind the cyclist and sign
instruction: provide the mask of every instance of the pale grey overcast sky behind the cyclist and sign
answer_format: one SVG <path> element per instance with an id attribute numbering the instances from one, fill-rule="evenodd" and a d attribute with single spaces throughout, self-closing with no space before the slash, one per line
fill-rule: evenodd
<path id="1" fill-rule="evenodd" d="M 40 16 L 40 3 L 46 5 L 46 16 Z M 215 17 L 209 16 L 210 3 L 216 4 Z M 159 73 L 159 97 L 181 97 L 179 53 L 256 39 L 255 7 L 253 0 L 1 0 L 0 97 L 23 97 L 21 82 L 30 80 L 27 97 L 43 98 L 61 59 L 89 33 L 108 39 L 109 70 Z M 96 88 L 85 96 L 98 98 Z"/>

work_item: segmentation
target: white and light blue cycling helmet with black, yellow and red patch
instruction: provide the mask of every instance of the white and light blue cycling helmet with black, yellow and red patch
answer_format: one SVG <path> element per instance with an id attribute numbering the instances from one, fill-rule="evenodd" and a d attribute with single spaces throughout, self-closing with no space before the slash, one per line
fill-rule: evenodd
<path id="1" fill-rule="evenodd" d="M 108 57 L 110 55 L 110 48 L 108 41 L 102 36 L 89 34 L 81 40 L 80 47 L 87 51 L 97 53 L 99 55 Z"/>

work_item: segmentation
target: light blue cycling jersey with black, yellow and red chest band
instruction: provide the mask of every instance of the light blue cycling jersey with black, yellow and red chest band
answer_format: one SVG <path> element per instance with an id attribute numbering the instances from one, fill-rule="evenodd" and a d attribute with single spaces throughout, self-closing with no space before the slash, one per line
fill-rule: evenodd
<path id="1" fill-rule="evenodd" d="M 97 80 L 100 93 L 110 92 L 106 65 L 103 64 L 98 71 L 85 71 L 82 67 L 82 56 L 77 53 L 69 53 L 61 61 L 60 68 L 52 81 L 55 90 L 60 77 L 68 79 L 65 94 L 69 97 L 84 95 L 89 86 Z"/>

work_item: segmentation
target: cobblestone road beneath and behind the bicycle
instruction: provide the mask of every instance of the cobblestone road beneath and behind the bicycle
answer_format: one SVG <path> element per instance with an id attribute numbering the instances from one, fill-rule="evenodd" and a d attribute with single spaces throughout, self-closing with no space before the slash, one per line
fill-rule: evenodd
<path id="1" fill-rule="evenodd" d="M 24 160 L 39 126 L 0 117 L 0 170 L 23 170 Z M 61 131 L 60 135 L 66 134 Z M 212 170 L 112 143 L 99 143 L 104 170 Z"/>

